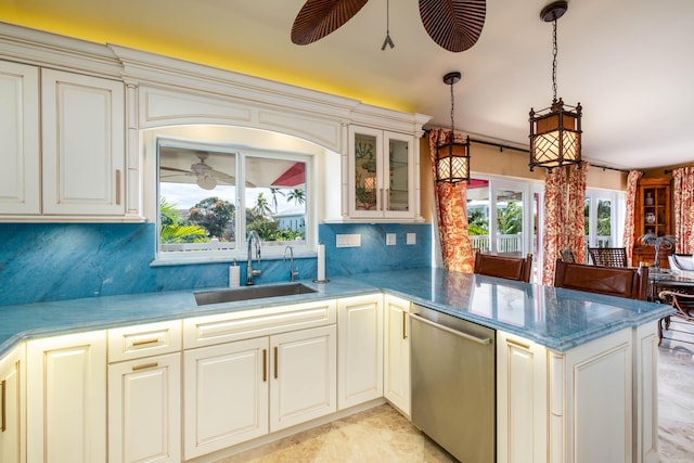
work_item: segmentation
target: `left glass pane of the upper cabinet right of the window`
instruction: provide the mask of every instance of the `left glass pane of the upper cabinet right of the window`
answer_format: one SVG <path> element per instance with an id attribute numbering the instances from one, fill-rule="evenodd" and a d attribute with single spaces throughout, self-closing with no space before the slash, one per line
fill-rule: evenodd
<path id="1" fill-rule="evenodd" d="M 376 208 L 376 138 L 355 134 L 355 208 L 373 210 Z"/>

